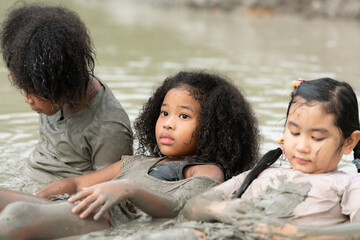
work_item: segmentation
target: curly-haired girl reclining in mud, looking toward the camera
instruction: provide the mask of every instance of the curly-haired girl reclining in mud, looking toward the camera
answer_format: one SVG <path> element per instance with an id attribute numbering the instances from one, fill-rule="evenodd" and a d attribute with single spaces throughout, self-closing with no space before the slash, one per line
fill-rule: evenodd
<path id="1" fill-rule="evenodd" d="M 249 169 L 257 157 L 258 128 L 249 103 L 215 74 L 179 72 L 167 78 L 134 126 L 142 155 L 54 182 L 36 192 L 37 197 L 0 190 L 0 236 L 87 233 L 143 212 L 174 217 L 188 199 Z M 68 202 L 47 200 L 64 193 L 76 194 Z M 76 201 L 80 203 L 74 205 Z M 37 217 L 24 219 L 25 212 Z"/>

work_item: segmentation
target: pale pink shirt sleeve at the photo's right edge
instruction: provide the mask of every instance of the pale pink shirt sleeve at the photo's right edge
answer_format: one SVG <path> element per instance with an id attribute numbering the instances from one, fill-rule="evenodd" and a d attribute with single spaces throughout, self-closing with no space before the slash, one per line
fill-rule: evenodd
<path id="1" fill-rule="evenodd" d="M 359 196 L 360 174 L 357 174 L 344 191 L 341 201 L 342 214 L 350 215 L 355 210 L 360 208 Z"/>

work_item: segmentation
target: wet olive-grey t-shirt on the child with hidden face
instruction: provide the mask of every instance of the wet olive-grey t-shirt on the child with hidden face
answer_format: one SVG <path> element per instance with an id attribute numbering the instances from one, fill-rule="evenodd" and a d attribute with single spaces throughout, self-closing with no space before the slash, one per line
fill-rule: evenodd
<path id="1" fill-rule="evenodd" d="M 25 174 L 42 183 L 102 169 L 132 155 L 130 120 L 109 87 L 89 106 L 61 120 L 61 111 L 40 114 L 40 141 L 28 159 Z"/>

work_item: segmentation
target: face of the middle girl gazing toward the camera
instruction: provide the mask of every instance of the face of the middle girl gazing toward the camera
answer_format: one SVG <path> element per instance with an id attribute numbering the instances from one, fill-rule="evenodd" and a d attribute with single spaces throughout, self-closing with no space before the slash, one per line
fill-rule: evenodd
<path id="1" fill-rule="evenodd" d="M 167 92 L 156 122 L 156 141 L 162 154 L 184 157 L 196 152 L 200 103 L 184 88 Z"/>

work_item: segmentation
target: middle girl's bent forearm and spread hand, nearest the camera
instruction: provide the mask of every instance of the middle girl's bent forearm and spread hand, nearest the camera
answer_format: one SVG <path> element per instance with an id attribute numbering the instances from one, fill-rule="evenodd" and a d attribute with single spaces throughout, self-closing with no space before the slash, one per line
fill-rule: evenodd
<path id="1" fill-rule="evenodd" d="M 99 219 L 112 206 L 126 199 L 152 217 L 175 217 L 181 209 L 179 203 L 171 195 L 145 189 L 126 179 L 84 188 L 83 191 L 69 198 L 69 202 L 81 199 L 83 200 L 72 209 L 72 212 L 79 213 L 84 210 L 80 213 L 80 217 L 86 218 L 100 208 L 94 220 Z"/>

